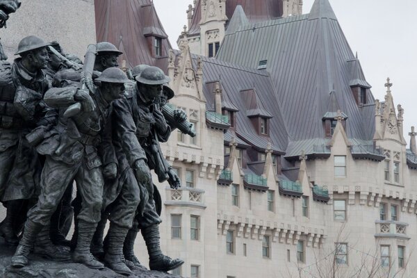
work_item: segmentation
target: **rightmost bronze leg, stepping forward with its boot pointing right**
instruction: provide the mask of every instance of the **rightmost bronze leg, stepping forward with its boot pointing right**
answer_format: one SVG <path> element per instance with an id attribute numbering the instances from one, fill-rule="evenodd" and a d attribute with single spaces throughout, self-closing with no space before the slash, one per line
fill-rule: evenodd
<path id="1" fill-rule="evenodd" d="M 158 213 L 156 213 L 155 202 L 154 199 L 152 199 L 152 196 L 145 206 L 143 215 L 139 213 L 137 218 L 149 254 L 149 269 L 166 272 L 182 265 L 184 263 L 183 260 L 171 259 L 169 256 L 165 256 L 161 251 L 161 236 L 159 235 L 161 218 L 159 218 Z"/>

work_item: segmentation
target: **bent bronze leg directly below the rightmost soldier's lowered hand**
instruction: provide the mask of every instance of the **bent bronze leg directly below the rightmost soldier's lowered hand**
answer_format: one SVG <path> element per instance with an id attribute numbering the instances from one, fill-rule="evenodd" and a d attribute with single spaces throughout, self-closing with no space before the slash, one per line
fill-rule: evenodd
<path id="1" fill-rule="evenodd" d="M 108 246 L 104 261 L 115 272 L 129 275 L 131 270 L 125 264 L 123 243 L 126 239 L 126 234 L 132 227 L 136 208 L 140 201 L 140 190 L 131 168 L 128 168 L 123 176 L 122 190 L 115 200 L 108 218 L 111 224 L 108 230 Z"/>

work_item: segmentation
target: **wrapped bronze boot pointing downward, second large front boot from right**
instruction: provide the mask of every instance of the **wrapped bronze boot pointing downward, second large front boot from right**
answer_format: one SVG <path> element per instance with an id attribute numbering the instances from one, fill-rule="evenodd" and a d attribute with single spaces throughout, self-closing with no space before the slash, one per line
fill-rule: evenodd
<path id="1" fill-rule="evenodd" d="M 127 228 L 111 223 L 107 234 L 108 243 L 104 263 L 108 268 L 121 275 L 133 273 L 127 267 L 123 256 L 123 243 L 128 231 Z"/>

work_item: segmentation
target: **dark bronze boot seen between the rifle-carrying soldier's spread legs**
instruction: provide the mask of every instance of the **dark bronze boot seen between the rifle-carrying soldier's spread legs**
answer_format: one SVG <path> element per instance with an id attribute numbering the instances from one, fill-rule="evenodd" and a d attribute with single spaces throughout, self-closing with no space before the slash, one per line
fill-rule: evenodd
<path id="1" fill-rule="evenodd" d="M 52 243 L 49 238 L 49 225 L 44 226 L 38 234 L 33 247 L 33 254 L 54 261 L 70 260 L 70 250 L 68 250 L 68 247 L 56 246 Z"/>

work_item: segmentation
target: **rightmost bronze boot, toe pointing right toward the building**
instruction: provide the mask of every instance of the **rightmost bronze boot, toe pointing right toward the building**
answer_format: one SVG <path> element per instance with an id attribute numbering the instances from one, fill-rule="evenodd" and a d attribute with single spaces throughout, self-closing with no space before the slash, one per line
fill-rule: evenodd
<path id="1" fill-rule="evenodd" d="M 171 259 L 169 256 L 162 254 L 161 246 L 159 244 L 159 227 L 157 224 L 146 227 L 141 230 L 143 239 L 149 254 L 149 269 L 165 271 L 178 268 L 184 263 L 181 259 Z"/>

